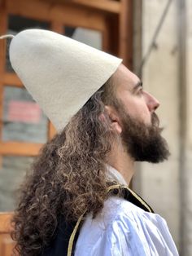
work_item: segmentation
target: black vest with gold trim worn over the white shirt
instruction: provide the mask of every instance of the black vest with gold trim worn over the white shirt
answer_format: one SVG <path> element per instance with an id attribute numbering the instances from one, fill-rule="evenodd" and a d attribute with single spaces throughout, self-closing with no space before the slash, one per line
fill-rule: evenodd
<path id="1" fill-rule="evenodd" d="M 124 199 L 137 205 L 147 212 L 154 213 L 151 206 L 147 205 L 146 201 L 138 196 L 130 188 L 123 185 L 113 185 L 108 188 L 110 195 L 122 195 Z M 83 215 L 81 216 L 83 218 Z M 61 216 L 59 226 L 55 232 L 55 236 L 50 241 L 50 245 L 43 249 L 41 256 L 72 256 L 74 255 L 75 245 L 79 232 L 81 229 L 82 221 L 79 218 L 77 223 L 66 223 L 64 217 Z"/>

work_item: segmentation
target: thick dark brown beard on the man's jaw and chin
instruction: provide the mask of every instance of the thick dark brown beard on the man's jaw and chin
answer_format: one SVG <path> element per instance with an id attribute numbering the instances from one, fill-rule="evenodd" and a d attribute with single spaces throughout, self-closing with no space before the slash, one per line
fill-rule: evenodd
<path id="1" fill-rule="evenodd" d="M 120 116 L 123 126 L 121 138 L 135 161 L 159 163 L 168 159 L 168 143 L 160 135 L 163 129 L 159 128 L 159 118 L 155 113 L 152 113 L 150 126 L 133 119 L 123 109 Z"/>

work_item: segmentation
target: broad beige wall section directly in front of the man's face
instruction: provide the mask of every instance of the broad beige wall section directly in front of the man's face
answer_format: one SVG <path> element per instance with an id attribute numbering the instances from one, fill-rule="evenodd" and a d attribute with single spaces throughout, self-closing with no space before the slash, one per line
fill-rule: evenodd
<path id="1" fill-rule="evenodd" d="M 167 0 L 142 2 L 142 55 L 151 43 Z M 144 88 L 159 99 L 157 111 L 171 157 L 168 161 L 140 166 L 140 193 L 168 222 L 174 241 L 179 246 L 179 82 L 177 45 L 177 2 L 172 1 L 168 15 L 156 40 L 156 48 L 142 69 Z M 136 183 L 137 180 L 136 180 Z"/>

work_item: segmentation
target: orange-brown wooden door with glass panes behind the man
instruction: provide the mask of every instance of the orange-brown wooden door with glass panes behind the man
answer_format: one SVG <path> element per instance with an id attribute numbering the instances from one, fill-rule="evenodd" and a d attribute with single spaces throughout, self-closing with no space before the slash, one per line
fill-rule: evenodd
<path id="1" fill-rule="evenodd" d="M 130 2 L 4 0 L 0 1 L 0 34 L 18 33 L 34 27 L 50 29 L 124 57 L 124 64 L 130 67 L 132 41 L 128 44 L 128 54 L 124 26 Z M 131 34 L 132 28 L 126 29 Z M 43 143 L 55 135 L 54 126 L 12 70 L 7 56 L 9 43 L 0 40 L 0 195 L 2 184 L 7 183 L 7 194 L 0 196 L 1 256 L 10 256 L 14 246 L 10 236 L 14 198 L 10 201 L 7 198 L 13 197 L 16 186 Z M 28 111 L 33 111 L 33 117 L 28 117 Z M 36 130 L 42 130 L 43 134 L 37 136 Z"/>

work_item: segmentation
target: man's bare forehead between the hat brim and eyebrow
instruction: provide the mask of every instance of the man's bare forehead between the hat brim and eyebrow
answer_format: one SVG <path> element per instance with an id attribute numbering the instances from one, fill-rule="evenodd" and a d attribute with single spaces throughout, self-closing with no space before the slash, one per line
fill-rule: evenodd
<path id="1" fill-rule="evenodd" d="M 116 90 L 132 90 L 133 87 L 140 82 L 140 79 L 132 73 L 124 64 L 120 64 L 116 73 L 113 74 L 113 79 L 116 84 Z"/>

